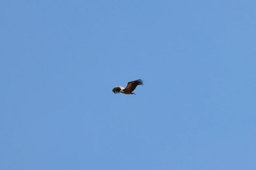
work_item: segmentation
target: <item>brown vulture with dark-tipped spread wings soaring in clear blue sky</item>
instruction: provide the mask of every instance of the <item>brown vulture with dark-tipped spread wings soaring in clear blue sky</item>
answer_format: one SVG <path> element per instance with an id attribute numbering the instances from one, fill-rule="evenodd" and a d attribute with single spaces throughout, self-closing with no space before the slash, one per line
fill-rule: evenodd
<path id="1" fill-rule="evenodd" d="M 117 86 L 117 87 L 113 88 L 112 92 L 114 92 L 114 93 L 120 93 L 121 92 L 123 94 L 135 94 L 135 93 L 133 93 L 133 91 L 134 91 L 134 89 L 136 89 L 136 87 L 138 85 L 143 86 L 143 81 L 141 79 L 128 82 L 126 88 L 123 88 L 121 86 Z"/>

